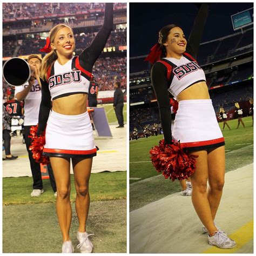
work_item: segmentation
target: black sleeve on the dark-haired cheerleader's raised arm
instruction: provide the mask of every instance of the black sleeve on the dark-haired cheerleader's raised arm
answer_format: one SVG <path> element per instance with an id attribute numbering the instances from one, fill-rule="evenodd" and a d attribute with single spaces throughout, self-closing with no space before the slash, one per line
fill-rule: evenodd
<path id="1" fill-rule="evenodd" d="M 208 16 L 208 4 L 203 3 L 200 6 L 198 15 L 194 21 L 193 29 L 190 33 L 190 38 L 187 42 L 186 52 L 190 53 L 194 58 L 197 58 L 198 49 L 203 36 L 205 22 Z"/>

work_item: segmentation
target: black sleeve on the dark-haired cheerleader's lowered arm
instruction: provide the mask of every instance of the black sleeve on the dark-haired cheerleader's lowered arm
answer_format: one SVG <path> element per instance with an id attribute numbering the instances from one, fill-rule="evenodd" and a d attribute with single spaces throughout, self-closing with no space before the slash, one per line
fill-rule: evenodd
<path id="1" fill-rule="evenodd" d="M 169 84 L 166 78 L 166 67 L 157 62 L 153 65 L 151 70 L 151 82 L 154 88 L 154 92 L 157 96 L 157 103 L 159 107 L 160 120 L 162 129 L 164 132 L 165 143 L 172 143 L 172 131 L 171 131 L 171 105 L 169 98 Z"/>

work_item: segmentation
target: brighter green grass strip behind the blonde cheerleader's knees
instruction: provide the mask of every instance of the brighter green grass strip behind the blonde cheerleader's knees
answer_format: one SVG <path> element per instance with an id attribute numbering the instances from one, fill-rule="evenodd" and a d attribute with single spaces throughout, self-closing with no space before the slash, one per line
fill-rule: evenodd
<path id="1" fill-rule="evenodd" d="M 50 180 L 43 180 L 41 197 L 30 197 L 32 177 L 3 178 L 3 205 L 55 203 Z M 126 199 L 126 172 L 92 173 L 90 178 L 91 201 Z M 71 202 L 76 199 L 73 174 L 71 174 Z"/>

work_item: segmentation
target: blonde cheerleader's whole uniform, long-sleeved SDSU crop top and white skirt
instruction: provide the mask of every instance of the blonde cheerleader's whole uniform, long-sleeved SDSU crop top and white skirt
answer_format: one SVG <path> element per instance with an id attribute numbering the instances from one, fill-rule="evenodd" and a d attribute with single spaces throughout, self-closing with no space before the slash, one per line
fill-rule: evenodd
<path id="1" fill-rule="evenodd" d="M 92 125 L 88 112 L 78 115 L 64 115 L 51 112 L 51 99 L 88 93 L 92 68 L 102 53 L 113 28 L 113 3 L 106 3 L 103 27 L 91 45 L 79 56 L 73 56 L 64 65 L 56 60 L 48 69 L 47 82 L 42 82 L 42 101 L 39 110 L 38 134 L 47 123 L 44 154 L 49 157 L 96 156 Z M 49 117 L 49 119 L 48 119 Z"/>

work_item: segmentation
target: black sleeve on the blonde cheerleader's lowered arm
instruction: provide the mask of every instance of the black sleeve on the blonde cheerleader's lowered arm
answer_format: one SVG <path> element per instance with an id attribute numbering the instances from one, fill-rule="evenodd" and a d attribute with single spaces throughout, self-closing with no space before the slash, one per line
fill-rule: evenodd
<path id="1" fill-rule="evenodd" d="M 39 109 L 37 136 L 44 131 L 51 110 L 51 93 L 49 90 L 49 85 L 42 79 L 40 80 L 42 84 L 42 99 Z"/>

